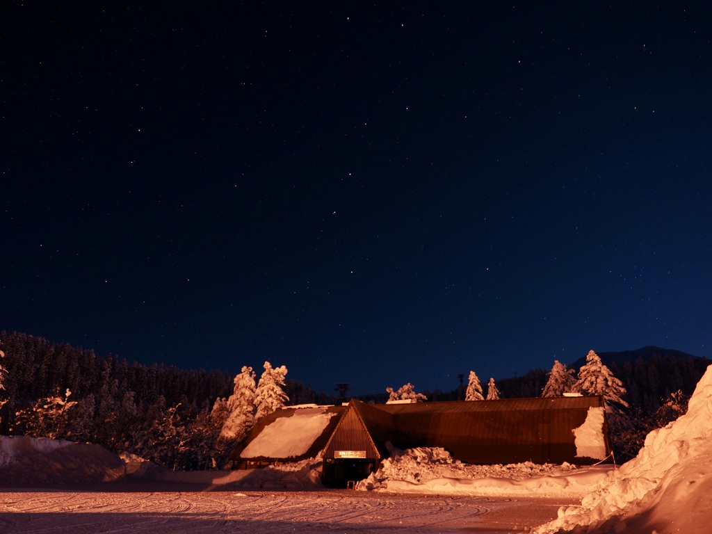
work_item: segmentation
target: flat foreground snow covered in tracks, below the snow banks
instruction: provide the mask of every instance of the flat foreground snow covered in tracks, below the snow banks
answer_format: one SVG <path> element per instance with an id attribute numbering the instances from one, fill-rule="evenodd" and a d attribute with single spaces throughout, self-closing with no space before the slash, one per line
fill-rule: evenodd
<path id="1" fill-rule="evenodd" d="M 134 492 L 7 489 L 0 532 L 268 533 L 464 532 L 491 501 L 476 497 L 324 492 Z M 471 531 L 471 530 L 470 530 Z"/>

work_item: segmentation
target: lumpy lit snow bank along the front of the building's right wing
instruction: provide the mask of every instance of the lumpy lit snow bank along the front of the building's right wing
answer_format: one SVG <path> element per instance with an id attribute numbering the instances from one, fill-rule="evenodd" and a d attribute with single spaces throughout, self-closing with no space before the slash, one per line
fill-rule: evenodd
<path id="1" fill-rule="evenodd" d="M 462 495 L 582 496 L 605 478 L 610 466 L 579 468 L 570 464 L 471 465 L 453 460 L 439 447 L 399 451 L 368 478 L 361 491 L 458 493 Z"/>

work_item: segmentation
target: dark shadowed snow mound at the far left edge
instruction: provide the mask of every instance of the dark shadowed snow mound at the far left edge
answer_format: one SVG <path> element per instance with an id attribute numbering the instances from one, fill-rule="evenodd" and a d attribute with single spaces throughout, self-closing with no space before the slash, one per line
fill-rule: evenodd
<path id="1" fill-rule="evenodd" d="M 102 446 L 0 436 L 0 485 L 115 481 L 125 464 Z"/>

